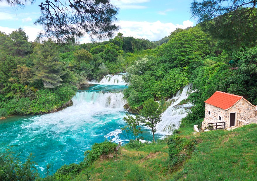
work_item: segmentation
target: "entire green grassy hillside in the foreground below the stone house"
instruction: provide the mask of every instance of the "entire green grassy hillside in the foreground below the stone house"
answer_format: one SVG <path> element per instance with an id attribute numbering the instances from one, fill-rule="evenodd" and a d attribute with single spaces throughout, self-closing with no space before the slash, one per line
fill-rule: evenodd
<path id="1" fill-rule="evenodd" d="M 182 164 L 169 166 L 166 138 L 140 147 L 139 156 L 136 149 L 124 146 L 117 160 L 115 155 L 97 160 L 90 168 L 92 180 L 257 180 L 257 124 L 232 131 L 182 133 L 182 138 L 197 141 L 195 151 Z M 75 180 L 86 180 L 85 171 Z"/>

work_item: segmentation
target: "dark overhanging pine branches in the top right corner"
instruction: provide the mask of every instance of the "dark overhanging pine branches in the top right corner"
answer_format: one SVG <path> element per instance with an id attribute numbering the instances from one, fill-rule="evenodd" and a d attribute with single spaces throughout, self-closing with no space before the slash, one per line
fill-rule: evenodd
<path id="1" fill-rule="evenodd" d="M 256 44 L 256 1 L 194 1 L 191 12 L 225 49 Z"/>

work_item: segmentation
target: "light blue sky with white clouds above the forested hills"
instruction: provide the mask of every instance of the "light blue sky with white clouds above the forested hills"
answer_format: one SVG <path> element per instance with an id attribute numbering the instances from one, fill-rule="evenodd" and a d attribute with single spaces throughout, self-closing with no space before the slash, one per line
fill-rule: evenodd
<path id="1" fill-rule="evenodd" d="M 190 13 L 192 1 L 111 0 L 111 3 L 119 8 L 118 22 L 115 23 L 120 25 L 121 29 L 118 32 L 123 33 L 124 37 L 132 36 L 158 41 L 170 35 L 176 27 L 187 28 L 196 25 Z M 0 31 L 8 34 L 21 27 L 29 36 L 29 41 L 33 42 L 38 32 L 42 30 L 40 25 L 34 25 L 40 16 L 38 6 L 40 2 L 36 0 L 34 4 L 27 4 L 25 8 L 18 9 L 0 2 Z M 90 41 L 87 34 L 80 39 L 80 43 Z"/>

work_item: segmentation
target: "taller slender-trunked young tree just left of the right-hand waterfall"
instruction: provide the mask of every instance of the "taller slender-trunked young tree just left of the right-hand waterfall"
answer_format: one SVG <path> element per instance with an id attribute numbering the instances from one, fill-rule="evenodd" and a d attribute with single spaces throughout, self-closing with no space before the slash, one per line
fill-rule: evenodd
<path id="1" fill-rule="evenodd" d="M 162 109 L 159 107 L 158 102 L 155 102 L 153 99 L 148 99 L 144 102 L 144 106 L 140 115 L 142 116 L 141 121 L 144 123 L 144 125 L 152 129 L 153 142 L 155 143 L 155 127 L 159 122 L 161 122 Z"/>

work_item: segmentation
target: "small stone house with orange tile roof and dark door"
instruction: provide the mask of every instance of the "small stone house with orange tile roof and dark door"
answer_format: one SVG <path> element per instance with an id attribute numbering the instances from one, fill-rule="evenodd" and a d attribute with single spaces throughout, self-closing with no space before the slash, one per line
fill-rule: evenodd
<path id="1" fill-rule="evenodd" d="M 216 91 L 204 102 L 205 118 L 202 122 L 202 129 L 208 129 L 208 123 L 225 122 L 226 129 L 257 122 L 256 106 L 243 96 Z M 222 123 L 218 125 L 220 124 Z"/>

